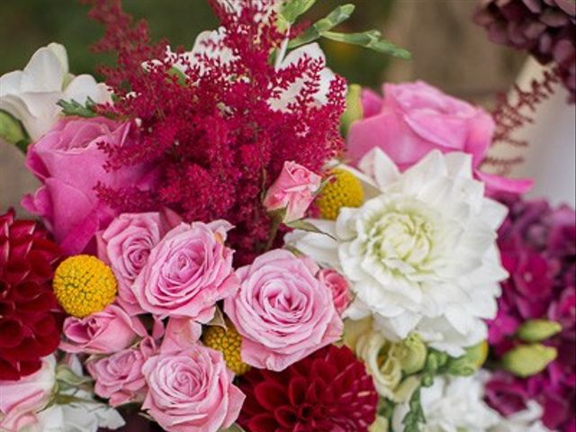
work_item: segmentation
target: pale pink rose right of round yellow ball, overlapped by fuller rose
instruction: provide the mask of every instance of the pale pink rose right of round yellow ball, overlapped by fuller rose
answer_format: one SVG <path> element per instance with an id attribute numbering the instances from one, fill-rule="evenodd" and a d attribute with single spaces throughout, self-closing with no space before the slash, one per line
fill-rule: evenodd
<path id="1" fill-rule="evenodd" d="M 124 213 L 96 235 L 98 257 L 112 267 L 118 281 L 118 302 L 130 314 L 142 312 L 131 286 L 164 235 L 160 214 Z"/>

